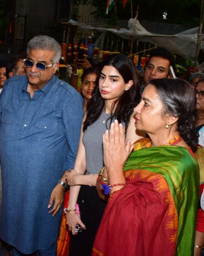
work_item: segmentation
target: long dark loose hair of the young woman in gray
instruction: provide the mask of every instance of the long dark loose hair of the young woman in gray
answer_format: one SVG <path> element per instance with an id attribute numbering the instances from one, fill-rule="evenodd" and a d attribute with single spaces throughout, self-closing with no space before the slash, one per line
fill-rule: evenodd
<path id="1" fill-rule="evenodd" d="M 137 105 L 140 99 L 139 95 L 139 82 L 138 82 L 138 73 L 136 67 L 125 55 L 111 56 L 103 62 L 101 65 L 101 70 L 104 66 L 114 67 L 119 74 L 121 74 L 125 83 L 128 83 L 130 80 L 133 80 L 133 85 L 128 91 L 125 91 L 113 104 L 111 108 L 110 120 L 117 119 L 119 123 L 125 123 L 125 129 L 128 126 L 129 119 L 133 112 L 133 108 Z M 83 131 L 87 129 L 87 126 L 96 122 L 96 120 L 101 115 L 101 112 L 104 110 L 105 99 L 101 97 L 99 91 L 99 78 L 96 80 L 96 87 L 94 88 L 93 96 L 90 99 L 87 106 L 87 116 L 83 124 Z M 113 112 L 114 111 L 114 112 Z"/>

